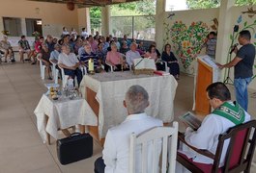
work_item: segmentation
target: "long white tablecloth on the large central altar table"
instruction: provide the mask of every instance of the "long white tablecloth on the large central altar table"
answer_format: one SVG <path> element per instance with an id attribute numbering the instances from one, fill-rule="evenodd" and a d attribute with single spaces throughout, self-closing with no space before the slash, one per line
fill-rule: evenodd
<path id="1" fill-rule="evenodd" d="M 128 115 L 123 106 L 129 86 L 144 86 L 149 93 L 150 106 L 146 112 L 163 120 L 173 120 L 173 101 L 177 82 L 172 75 L 133 75 L 128 72 L 100 73 L 85 75 L 80 90 L 86 98 L 86 86 L 94 90 L 100 104 L 99 136 L 104 137 L 109 128 L 123 122 Z"/>

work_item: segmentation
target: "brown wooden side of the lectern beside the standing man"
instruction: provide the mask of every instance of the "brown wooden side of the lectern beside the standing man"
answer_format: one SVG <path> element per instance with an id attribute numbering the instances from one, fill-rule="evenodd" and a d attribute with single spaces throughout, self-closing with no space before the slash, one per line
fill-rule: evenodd
<path id="1" fill-rule="evenodd" d="M 194 111 L 198 114 L 207 115 L 211 112 L 211 105 L 207 98 L 206 88 L 213 83 L 213 67 L 201 59 L 197 59 L 197 62 Z"/>

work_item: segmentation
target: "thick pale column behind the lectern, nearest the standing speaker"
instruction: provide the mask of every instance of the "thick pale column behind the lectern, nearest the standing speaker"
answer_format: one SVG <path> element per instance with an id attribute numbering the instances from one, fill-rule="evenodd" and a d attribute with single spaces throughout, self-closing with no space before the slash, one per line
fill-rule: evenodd
<path id="1" fill-rule="evenodd" d="M 233 32 L 231 8 L 235 5 L 235 0 L 222 0 L 218 16 L 218 33 L 216 45 L 216 62 L 226 63 L 230 47 L 230 34 Z M 221 71 L 221 81 L 224 78 L 224 70 Z"/>

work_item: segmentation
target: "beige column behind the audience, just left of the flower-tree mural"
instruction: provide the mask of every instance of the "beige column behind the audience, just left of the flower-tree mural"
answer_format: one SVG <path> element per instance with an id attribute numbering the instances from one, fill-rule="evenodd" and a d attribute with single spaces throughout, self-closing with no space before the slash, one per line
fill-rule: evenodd
<path id="1" fill-rule="evenodd" d="M 156 0 L 156 47 L 158 50 L 162 50 L 163 47 L 163 22 L 165 12 L 165 0 Z"/>

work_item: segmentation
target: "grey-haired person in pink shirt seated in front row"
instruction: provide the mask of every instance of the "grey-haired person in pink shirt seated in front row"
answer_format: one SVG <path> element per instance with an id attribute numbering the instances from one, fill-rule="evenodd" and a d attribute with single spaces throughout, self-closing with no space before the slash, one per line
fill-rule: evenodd
<path id="1" fill-rule="evenodd" d="M 113 66 L 114 71 L 128 70 L 126 61 L 123 60 L 122 55 L 117 51 L 117 45 L 111 44 L 111 51 L 106 54 L 106 62 Z"/>

